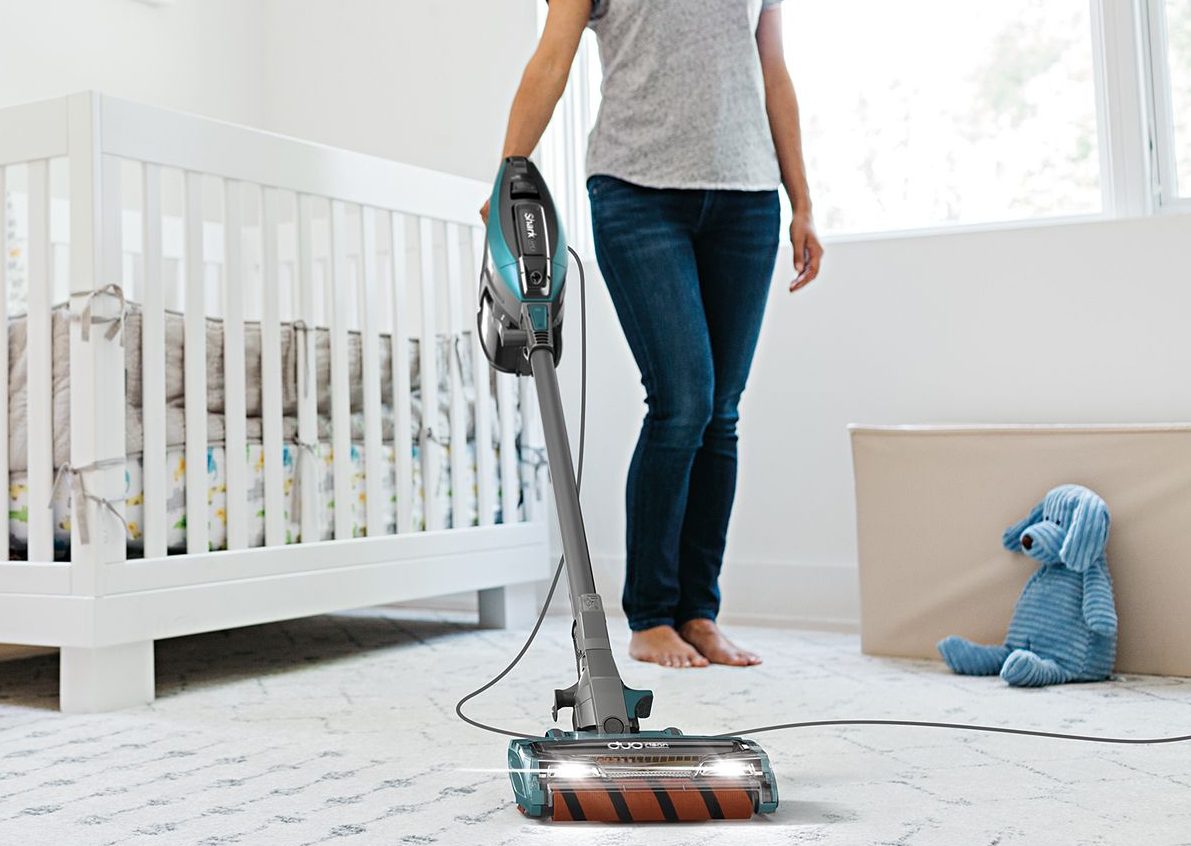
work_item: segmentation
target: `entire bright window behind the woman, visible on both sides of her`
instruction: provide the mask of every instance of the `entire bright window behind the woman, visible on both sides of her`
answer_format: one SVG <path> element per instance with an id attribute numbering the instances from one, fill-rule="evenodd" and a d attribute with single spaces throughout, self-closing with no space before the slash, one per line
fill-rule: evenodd
<path id="1" fill-rule="evenodd" d="M 1191 0 L 782 5 L 825 234 L 1191 210 Z M 544 147 L 587 238 L 592 38 Z"/>

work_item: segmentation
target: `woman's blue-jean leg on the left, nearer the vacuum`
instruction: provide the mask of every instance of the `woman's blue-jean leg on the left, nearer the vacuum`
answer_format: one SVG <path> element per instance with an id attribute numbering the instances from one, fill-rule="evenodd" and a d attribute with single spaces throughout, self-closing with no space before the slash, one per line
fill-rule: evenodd
<path id="1" fill-rule="evenodd" d="M 647 413 L 629 466 L 624 610 L 673 626 L 691 467 L 712 416 L 713 365 L 692 234 L 705 192 L 590 182 L 596 254 L 641 369 Z"/>

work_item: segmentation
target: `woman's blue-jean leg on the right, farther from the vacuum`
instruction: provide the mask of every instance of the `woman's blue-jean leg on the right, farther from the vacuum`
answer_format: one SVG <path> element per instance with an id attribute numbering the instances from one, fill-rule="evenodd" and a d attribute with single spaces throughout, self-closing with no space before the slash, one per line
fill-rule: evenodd
<path id="1" fill-rule="evenodd" d="M 715 621 L 719 612 L 719 570 L 736 491 L 737 404 L 761 330 L 780 231 L 777 192 L 721 191 L 712 197 L 694 253 L 715 390 L 691 467 L 679 543 L 680 626 Z M 749 663 L 738 658 L 729 663 Z"/>

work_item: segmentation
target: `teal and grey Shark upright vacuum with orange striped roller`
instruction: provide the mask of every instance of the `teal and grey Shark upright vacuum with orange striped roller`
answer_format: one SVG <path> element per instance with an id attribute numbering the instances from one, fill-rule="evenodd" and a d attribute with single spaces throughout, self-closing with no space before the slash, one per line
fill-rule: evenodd
<path id="1" fill-rule="evenodd" d="M 760 746 L 736 736 L 684 735 L 676 728 L 642 730 L 653 691 L 626 686 L 616 667 L 555 371 L 562 355 L 568 247 L 545 181 L 528 158 L 513 156 L 500 167 L 486 244 L 476 329 L 492 367 L 534 380 L 578 670 L 574 684 L 554 691 L 551 708 L 555 721 L 560 710 L 570 710 L 572 730 L 551 728 L 509 744 L 517 807 L 530 817 L 609 822 L 747 819 L 774 811 L 778 785 Z"/>

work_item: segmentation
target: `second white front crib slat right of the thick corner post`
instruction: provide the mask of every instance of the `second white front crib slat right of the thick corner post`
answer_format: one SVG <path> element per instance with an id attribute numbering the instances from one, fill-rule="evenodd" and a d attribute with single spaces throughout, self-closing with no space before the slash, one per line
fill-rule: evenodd
<path id="1" fill-rule="evenodd" d="M 207 552 L 207 326 L 202 174 L 186 174 L 186 550 Z"/>

